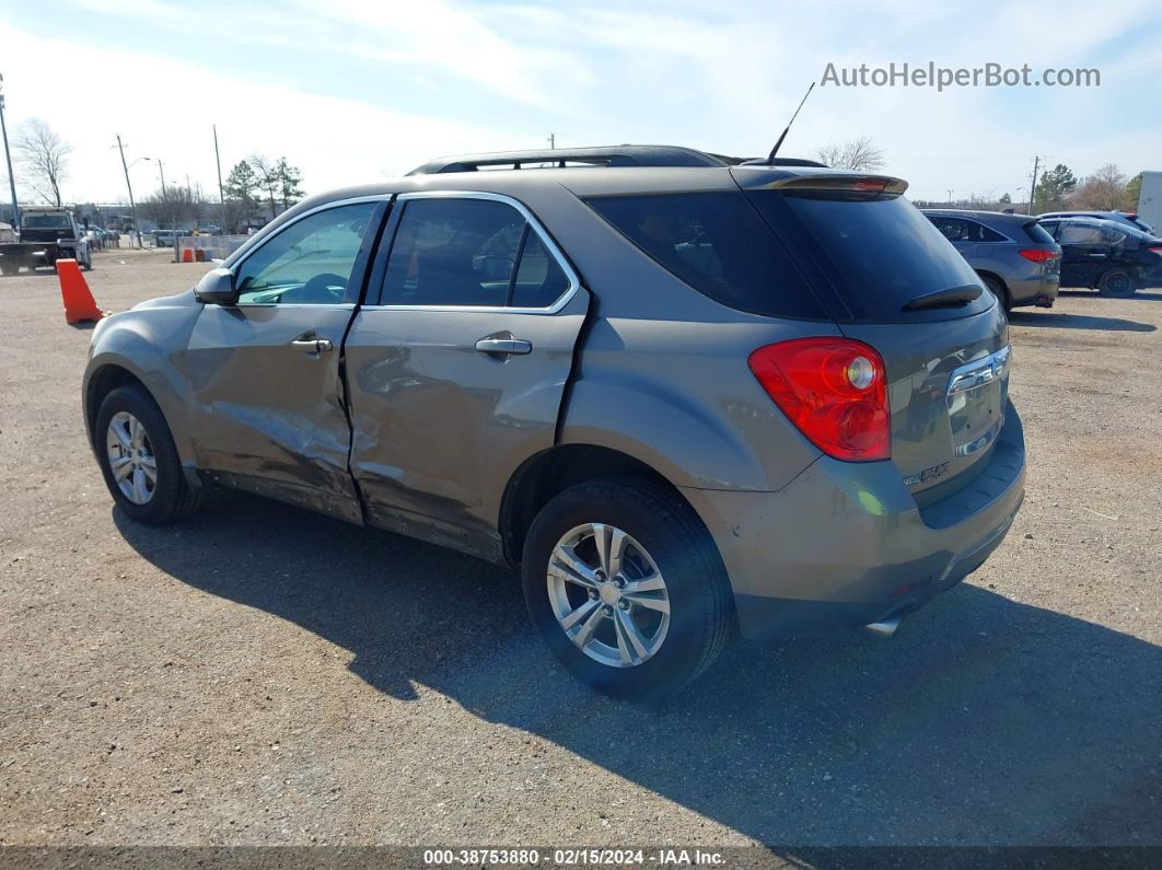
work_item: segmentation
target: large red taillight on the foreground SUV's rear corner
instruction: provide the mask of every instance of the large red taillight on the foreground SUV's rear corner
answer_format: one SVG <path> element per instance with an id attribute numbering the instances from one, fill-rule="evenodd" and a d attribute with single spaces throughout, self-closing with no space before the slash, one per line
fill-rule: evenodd
<path id="1" fill-rule="evenodd" d="M 852 462 L 891 456 L 883 359 L 848 338 L 769 344 L 747 360 L 799 432 L 824 453 Z"/>

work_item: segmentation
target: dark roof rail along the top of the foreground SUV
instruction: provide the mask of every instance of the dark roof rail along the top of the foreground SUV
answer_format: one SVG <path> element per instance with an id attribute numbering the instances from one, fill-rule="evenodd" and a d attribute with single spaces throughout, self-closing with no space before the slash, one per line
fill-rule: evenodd
<path id="1" fill-rule="evenodd" d="M 433 175 L 439 172 L 475 172 L 485 166 L 525 164 L 590 164 L 593 166 L 732 166 L 737 157 L 723 157 L 676 145 L 601 145 L 597 148 L 558 148 L 540 151 L 496 151 L 488 154 L 442 157 L 417 166 L 409 175 Z"/>

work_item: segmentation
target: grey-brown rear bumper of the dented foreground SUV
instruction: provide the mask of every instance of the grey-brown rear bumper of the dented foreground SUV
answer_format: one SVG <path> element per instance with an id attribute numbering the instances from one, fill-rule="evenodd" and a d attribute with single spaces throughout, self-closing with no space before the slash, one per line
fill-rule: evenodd
<path id="1" fill-rule="evenodd" d="M 739 627 L 769 638 L 916 610 L 976 570 L 1025 495 L 1025 439 L 1009 405 L 987 467 L 918 509 L 890 462 L 824 456 L 777 492 L 683 490 L 730 574 Z"/>

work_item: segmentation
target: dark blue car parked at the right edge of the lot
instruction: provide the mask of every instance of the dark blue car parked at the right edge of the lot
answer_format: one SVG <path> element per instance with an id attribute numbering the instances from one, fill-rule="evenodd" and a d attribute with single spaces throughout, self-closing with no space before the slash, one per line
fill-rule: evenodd
<path id="1" fill-rule="evenodd" d="M 1132 296 L 1142 287 L 1162 286 L 1162 239 L 1093 217 L 1049 217 L 1041 225 L 1061 245 L 1062 287 Z"/>

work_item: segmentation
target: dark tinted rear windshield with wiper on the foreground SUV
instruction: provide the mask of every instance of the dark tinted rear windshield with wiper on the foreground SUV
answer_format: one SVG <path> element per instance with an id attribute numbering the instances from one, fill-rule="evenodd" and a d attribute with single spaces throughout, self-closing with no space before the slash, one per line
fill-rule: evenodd
<path id="1" fill-rule="evenodd" d="M 988 309 L 988 293 L 967 305 L 904 312 L 927 293 L 980 286 L 980 278 L 927 217 L 894 194 L 774 192 L 747 194 L 781 237 L 826 274 L 848 309 L 839 319 L 878 323 L 952 319 Z"/>

